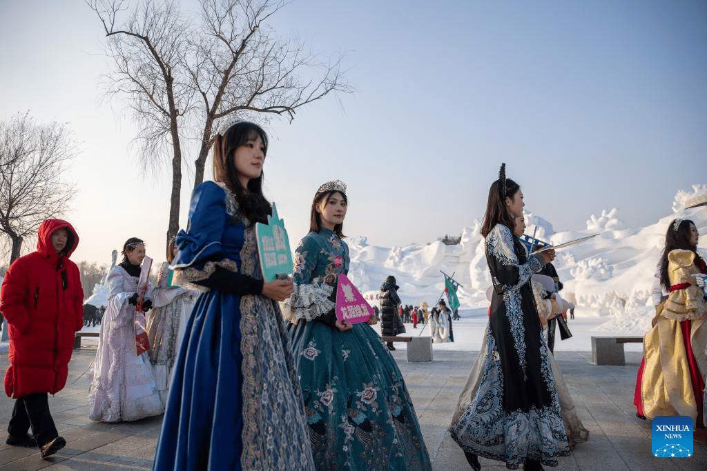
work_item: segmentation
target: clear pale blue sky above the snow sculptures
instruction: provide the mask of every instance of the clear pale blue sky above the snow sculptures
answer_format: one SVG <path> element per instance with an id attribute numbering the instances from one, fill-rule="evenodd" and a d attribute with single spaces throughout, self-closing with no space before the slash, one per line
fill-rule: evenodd
<path id="1" fill-rule="evenodd" d="M 557 231 L 614 207 L 648 225 L 707 182 L 703 1 L 296 0 L 271 26 L 322 60 L 345 54 L 356 90 L 268 126 L 266 193 L 293 243 L 329 179 L 349 185 L 346 234 L 384 246 L 480 219 L 501 162 Z M 83 1 L 0 2 L 0 119 L 30 110 L 82 142 L 76 260 L 110 261 L 136 235 L 159 261 L 170 178 L 141 176 L 129 114 L 105 102 L 100 28 Z"/>

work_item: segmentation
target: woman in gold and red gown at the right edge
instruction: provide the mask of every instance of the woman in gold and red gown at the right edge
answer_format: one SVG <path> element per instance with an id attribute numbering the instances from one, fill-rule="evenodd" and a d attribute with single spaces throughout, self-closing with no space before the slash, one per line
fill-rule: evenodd
<path id="1" fill-rule="evenodd" d="M 685 415 L 703 427 L 707 301 L 695 275 L 707 273 L 707 266 L 697 254 L 698 237 L 691 220 L 673 220 L 667 229 L 660 284 L 669 294 L 643 338 L 634 402 L 638 417 Z"/>

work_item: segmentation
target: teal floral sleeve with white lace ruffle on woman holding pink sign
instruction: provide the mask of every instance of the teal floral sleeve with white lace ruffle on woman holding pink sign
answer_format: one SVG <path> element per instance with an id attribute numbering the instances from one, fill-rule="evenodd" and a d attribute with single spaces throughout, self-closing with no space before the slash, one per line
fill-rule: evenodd
<path id="1" fill-rule="evenodd" d="M 331 299 L 334 287 L 323 282 L 322 278 L 313 278 L 321 247 L 315 237 L 305 237 L 300 241 L 293 258 L 294 291 L 281 303 L 285 319 L 296 322 L 298 319 L 312 321 L 328 314 L 336 307 Z"/>

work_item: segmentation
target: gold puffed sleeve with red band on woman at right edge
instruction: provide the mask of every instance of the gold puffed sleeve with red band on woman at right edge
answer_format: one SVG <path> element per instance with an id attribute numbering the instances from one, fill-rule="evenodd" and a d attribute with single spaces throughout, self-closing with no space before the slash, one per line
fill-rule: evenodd
<path id="1" fill-rule="evenodd" d="M 695 284 L 695 254 L 690 250 L 673 250 L 667 255 L 670 293 L 661 315 L 674 321 L 696 320 L 707 314 L 702 289 Z"/>

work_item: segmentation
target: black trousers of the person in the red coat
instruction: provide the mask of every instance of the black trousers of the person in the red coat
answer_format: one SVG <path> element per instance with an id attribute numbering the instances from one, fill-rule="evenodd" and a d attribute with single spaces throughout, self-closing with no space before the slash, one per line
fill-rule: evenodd
<path id="1" fill-rule="evenodd" d="M 30 427 L 40 447 L 59 436 L 52 414 L 49 413 L 47 393 L 23 395 L 15 400 L 15 408 L 12 410 L 12 418 L 7 428 L 8 433 L 23 437 Z"/>

